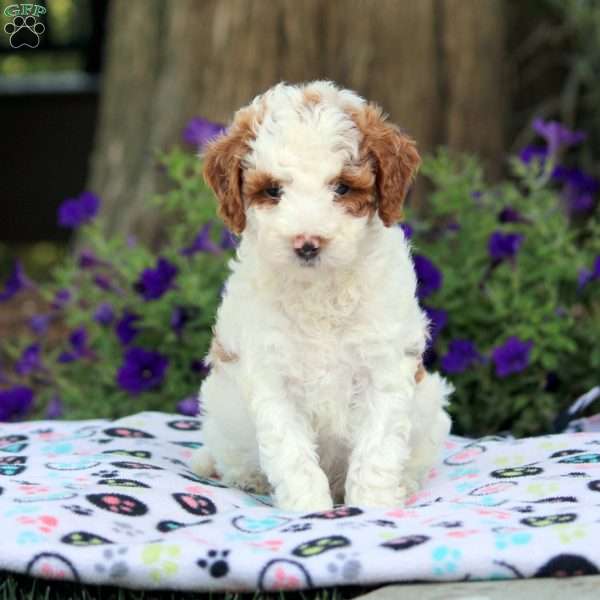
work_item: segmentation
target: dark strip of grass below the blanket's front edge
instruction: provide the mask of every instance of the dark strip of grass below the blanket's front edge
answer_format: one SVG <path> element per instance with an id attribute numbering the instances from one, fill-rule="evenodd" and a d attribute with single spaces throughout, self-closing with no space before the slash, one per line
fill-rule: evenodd
<path id="1" fill-rule="evenodd" d="M 34 579 L 0 571 L 0 600 L 346 600 L 370 591 L 359 587 L 305 592 L 249 594 L 200 592 L 143 592 Z"/>

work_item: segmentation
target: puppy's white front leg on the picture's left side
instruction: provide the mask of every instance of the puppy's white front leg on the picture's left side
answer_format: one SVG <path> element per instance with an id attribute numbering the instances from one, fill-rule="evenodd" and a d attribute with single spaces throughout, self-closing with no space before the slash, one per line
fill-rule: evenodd
<path id="1" fill-rule="evenodd" d="M 329 481 L 319 466 L 315 432 L 286 393 L 275 369 L 260 369 L 250 400 L 260 465 L 279 508 L 327 510 Z"/>

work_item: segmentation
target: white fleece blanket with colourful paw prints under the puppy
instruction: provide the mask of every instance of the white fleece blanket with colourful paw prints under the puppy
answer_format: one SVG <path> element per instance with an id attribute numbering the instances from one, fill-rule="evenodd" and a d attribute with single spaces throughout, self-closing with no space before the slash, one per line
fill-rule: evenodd
<path id="1" fill-rule="evenodd" d="M 197 477 L 201 418 L 0 425 L 0 570 L 276 590 L 597 574 L 600 433 L 451 437 L 404 507 L 275 509 Z"/>

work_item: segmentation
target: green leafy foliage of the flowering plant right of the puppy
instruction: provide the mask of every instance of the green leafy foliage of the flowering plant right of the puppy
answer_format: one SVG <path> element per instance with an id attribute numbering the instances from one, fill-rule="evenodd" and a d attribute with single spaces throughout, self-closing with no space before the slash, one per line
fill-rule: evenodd
<path id="1" fill-rule="evenodd" d="M 474 158 L 439 151 L 423 165 L 435 187 L 431 212 L 426 221 L 408 220 L 415 251 L 443 272 L 443 285 L 425 302 L 448 313 L 434 342 L 433 368 L 455 339 L 474 342 L 485 357 L 450 375 L 459 432 L 548 432 L 559 410 L 599 383 L 600 282 L 580 289 L 578 274 L 600 254 L 600 222 L 597 216 L 570 221 L 552 189 L 552 168 L 551 161 L 526 166 L 514 160 L 513 178 L 488 186 Z M 521 221 L 500 222 L 506 207 Z M 496 231 L 523 235 L 513 259 L 494 263 L 490 257 Z M 490 356 L 511 336 L 533 342 L 529 365 L 499 377 Z M 554 376 L 559 383 L 553 386 Z"/>

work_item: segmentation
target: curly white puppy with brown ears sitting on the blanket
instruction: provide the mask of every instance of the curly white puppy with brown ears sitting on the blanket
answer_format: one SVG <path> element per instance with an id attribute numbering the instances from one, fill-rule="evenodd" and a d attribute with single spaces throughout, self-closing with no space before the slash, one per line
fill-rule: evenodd
<path id="1" fill-rule="evenodd" d="M 450 428 L 401 217 L 415 143 L 327 81 L 278 84 L 206 149 L 241 236 L 201 388 L 193 468 L 282 509 L 391 507 Z"/>

